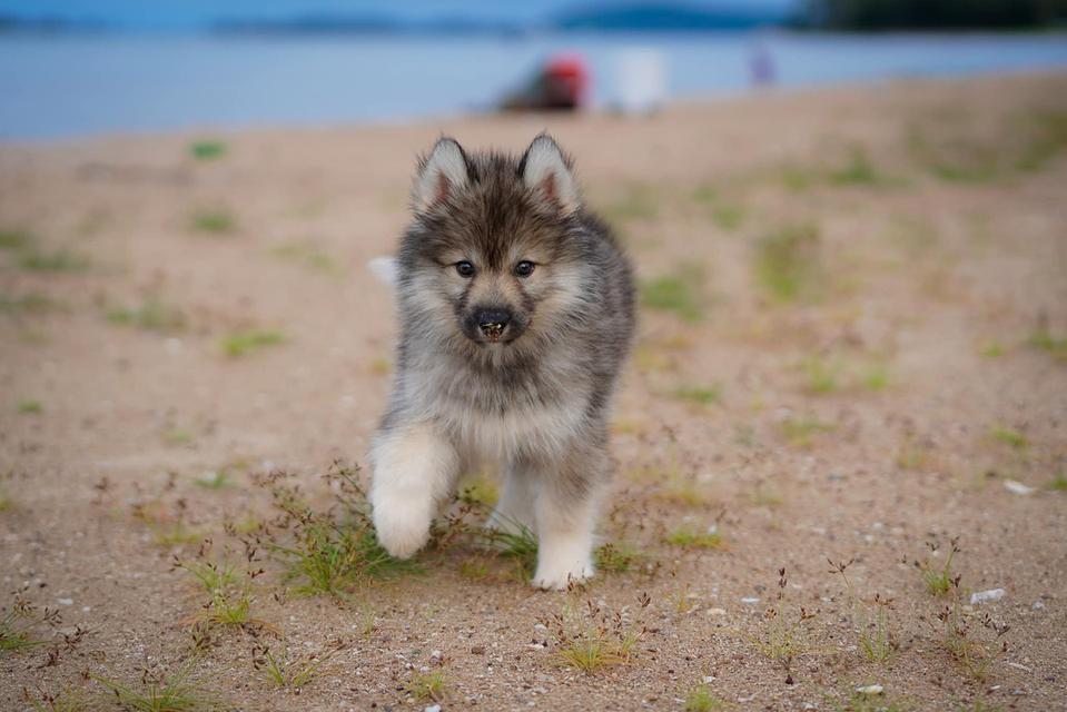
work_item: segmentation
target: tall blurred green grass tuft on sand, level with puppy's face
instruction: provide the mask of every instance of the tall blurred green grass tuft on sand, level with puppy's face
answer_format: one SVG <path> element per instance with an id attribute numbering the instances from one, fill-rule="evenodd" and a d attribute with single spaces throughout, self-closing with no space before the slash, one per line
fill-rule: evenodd
<path id="1" fill-rule="evenodd" d="M 813 222 L 788 225 L 755 245 L 755 278 L 777 303 L 813 297 L 822 274 L 819 228 Z"/>

